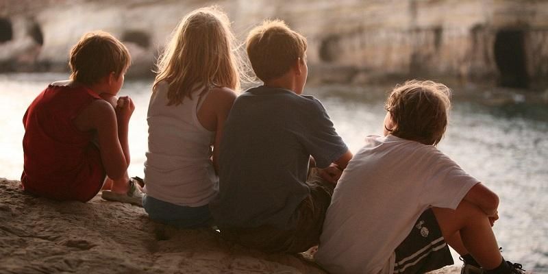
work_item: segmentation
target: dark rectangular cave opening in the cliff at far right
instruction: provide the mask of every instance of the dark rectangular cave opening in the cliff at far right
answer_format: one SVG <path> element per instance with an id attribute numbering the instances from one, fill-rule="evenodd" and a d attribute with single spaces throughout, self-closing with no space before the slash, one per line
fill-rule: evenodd
<path id="1" fill-rule="evenodd" d="M 523 30 L 501 29 L 497 32 L 495 62 L 500 73 L 500 86 L 508 88 L 527 88 L 529 86 Z"/>

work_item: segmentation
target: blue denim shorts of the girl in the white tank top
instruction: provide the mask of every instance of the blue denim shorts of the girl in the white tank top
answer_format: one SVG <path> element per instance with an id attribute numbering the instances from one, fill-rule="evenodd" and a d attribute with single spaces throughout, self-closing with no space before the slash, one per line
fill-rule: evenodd
<path id="1" fill-rule="evenodd" d="M 179 206 L 145 195 L 142 207 L 149 218 L 177 228 L 199 228 L 212 226 L 210 208 L 206 206 Z"/>

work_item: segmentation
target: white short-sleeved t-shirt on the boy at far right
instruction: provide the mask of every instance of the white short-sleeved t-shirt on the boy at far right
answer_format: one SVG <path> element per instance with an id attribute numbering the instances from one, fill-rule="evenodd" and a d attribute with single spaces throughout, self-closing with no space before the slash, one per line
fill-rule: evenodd
<path id="1" fill-rule="evenodd" d="M 456 209 L 478 182 L 434 146 L 368 136 L 335 188 L 316 262 L 334 274 L 391 274 L 419 216 L 429 206 Z"/>

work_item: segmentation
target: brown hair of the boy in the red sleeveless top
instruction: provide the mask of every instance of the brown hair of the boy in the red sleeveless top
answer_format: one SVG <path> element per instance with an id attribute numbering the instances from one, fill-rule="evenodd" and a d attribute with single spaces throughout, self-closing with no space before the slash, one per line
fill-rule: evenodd
<path id="1" fill-rule="evenodd" d="M 88 32 L 71 49 L 71 79 L 95 84 L 114 72 L 116 77 L 127 69 L 132 58 L 127 48 L 107 32 Z"/>

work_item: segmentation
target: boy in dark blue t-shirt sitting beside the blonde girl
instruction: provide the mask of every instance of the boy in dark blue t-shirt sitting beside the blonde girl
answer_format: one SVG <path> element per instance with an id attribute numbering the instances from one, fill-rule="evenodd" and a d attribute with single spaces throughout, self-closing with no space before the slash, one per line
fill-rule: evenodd
<path id="1" fill-rule="evenodd" d="M 267 252 L 318 244 L 334 186 L 352 157 L 320 101 L 301 95 L 306 47 L 283 21 L 251 30 L 247 53 L 264 86 L 236 99 L 221 142 L 214 219 L 225 238 Z M 314 165 L 319 169 L 308 176 Z"/>

